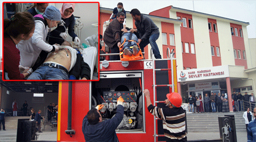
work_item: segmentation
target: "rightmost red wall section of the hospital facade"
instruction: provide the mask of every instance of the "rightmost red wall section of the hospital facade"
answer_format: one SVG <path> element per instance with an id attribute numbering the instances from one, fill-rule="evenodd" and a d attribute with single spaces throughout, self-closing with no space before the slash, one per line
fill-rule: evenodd
<path id="1" fill-rule="evenodd" d="M 233 48 L 236 49 L 237 52 L 237 59 L 235 60 L 236 65 L 245 66 L 245 69 L 247 69 L 247 61 L 243 59 L 243 52 L 245 51 L 245 41 L 243 40 L 243 37 L 240 37 L 239 30 L 242 29 L 241 25 L 230 23 L 230 27 L 233 27 L 234 29 L 234 36 L 232 36 L 232 42 L 233 42 Z M 235 28 L 237 28 L 238 36 L 236 36 Z M 240 56 L 241 59 L 238 59 L 238 50 L 240 50 Z"/>

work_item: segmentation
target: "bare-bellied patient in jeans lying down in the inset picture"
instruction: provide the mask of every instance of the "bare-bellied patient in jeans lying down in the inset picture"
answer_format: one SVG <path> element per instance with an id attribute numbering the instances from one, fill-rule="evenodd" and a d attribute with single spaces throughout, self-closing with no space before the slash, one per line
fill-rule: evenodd
<path id="1" fill-rule="evenodd" d="M 68 45 L 48 53 L 47 59 L 27 80 L 90 80 L 90 67 L 78 49 Z"/>

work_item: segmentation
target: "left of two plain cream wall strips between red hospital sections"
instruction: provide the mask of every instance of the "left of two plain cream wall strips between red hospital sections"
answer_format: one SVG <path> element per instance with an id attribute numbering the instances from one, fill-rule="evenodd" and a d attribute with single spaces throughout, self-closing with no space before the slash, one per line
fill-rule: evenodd
<path id="1" fill-rule="evenodd" d="M 192 15 L 197 68 L 212 66 L 208 18 Z"/>

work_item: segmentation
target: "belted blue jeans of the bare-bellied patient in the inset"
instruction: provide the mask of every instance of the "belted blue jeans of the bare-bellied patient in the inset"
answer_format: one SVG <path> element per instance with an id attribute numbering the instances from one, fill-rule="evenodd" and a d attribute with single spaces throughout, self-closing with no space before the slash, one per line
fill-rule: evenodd
<path id="1" fill-rule="evenodd" d="M 27 80 L 68 80 L 68 74 L 62 69 L 39 66 Z"/>

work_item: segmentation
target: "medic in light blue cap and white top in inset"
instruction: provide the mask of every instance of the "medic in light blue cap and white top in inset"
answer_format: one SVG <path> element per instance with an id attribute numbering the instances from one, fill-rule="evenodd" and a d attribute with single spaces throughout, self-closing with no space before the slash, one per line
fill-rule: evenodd
<path id="1" fill-rule="evenodd" d="M 17 45 L 20 51 L 20 65 L 35 65 L 41 51 L 52 52 L 59 49 L 58 45 L 47 43 L 47 33 L 53 31 L 61 20 L 59 9 L 48 6 L 43 15 L 35 15 L 35 32 L 29 40 L 22 40 Z M 47 55 L 46 55 L 47 56 Z M 43 61 L 42 61 L 43 62 Z M 36 68 L 33 68 L 35 70 Z"/>

